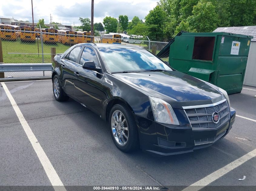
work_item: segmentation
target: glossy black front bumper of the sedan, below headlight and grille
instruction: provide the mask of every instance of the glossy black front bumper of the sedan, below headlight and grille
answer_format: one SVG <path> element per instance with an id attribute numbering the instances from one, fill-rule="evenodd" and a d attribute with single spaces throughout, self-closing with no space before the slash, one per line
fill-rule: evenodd
<path id="1" fill-rule="evenodd" d="M 234 124 L 236 111 L 230 109 L 230 119 L 217 129 L 193 131 L 191 127 L 156 123 L 150 119 L 135 115 L 142 150 L 160 154 L 174 155 L 193 152 L 205 148 L 228 134 Z M 212 138 L 210 142 L 195 145 L 195 140 Z"/>

